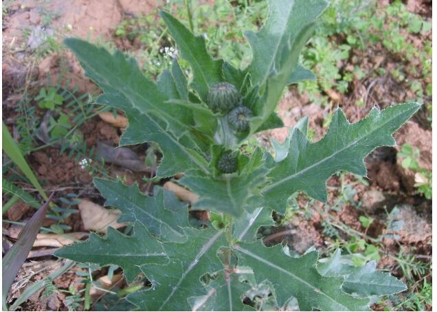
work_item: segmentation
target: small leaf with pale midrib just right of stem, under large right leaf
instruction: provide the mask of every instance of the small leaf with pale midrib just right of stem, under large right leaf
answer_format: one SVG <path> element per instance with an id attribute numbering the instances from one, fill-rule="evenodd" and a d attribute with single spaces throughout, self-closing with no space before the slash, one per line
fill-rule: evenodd
<path id="1" fill-rule="evenodd" d="M 256 241 L 256 232 L 262 225 L 274 225 L 271 210 L 256 208 L 253 212 L 245 211 L 236 219 L 232 236 L 237 241 L 253 243 Z"/>

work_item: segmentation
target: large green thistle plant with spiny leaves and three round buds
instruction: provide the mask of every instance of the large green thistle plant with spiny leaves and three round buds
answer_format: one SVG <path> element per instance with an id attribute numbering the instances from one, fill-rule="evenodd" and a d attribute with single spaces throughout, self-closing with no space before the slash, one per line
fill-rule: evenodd
<path id="1" fill-rule="evenodd" d="M 337 109 L 318 142 L 307 139 L 304 118 L 275 153 L 241 148 L 255 133 L 283 126 L 275 109 L 287 85 L 315 78 L 298 60 L 326 6 L 324 0 L 269 0 L 265 25 L 245 34 L 253 58 L 244 69 L 213 59 L 202 36 L 161 12 L 190 64 L 190 82 L 176 58 L 155 82 L 121 52 L 67 39 L 87 76 L 104 91 L 97 102 L 126 114 L 129 126 L 120 145 L 159 144 L 158 177 L 183 173 L 177 183 L 199 201 L 188 207 L 159 186 L 147 196 L 137 184 L 96 178 L 105 205 L 121 210 L 120 221 L 131 222 L 133 232 L 126 236 L 109 227 L 105 237 L 91 234 L 56 256 L 119 265 L 128 283 L 148 280 L 151 287 L 127 296 L 139 310 L 262 309 L 250 300 L 262 286 L 278 309 L 297 300 L 300 310 L 356 311 L 370 309 L 371 298 L 405 290 L 373 262 L 353 267 L 340 251 L 324 261 L 317 251 L 294 258 L 282 245 L 266 247 L 256 238 L 259 227 L 273 225 L 273 210 L 284 214 L 293 193 L 326 201 L 326 180 L 335 172 L 366 176 L 363 158 L 378 146 L 394 146 L 392 133 L 420 107 L 375 107 L 355 124 Z M 190 225 L 189 209 L 210 211 L 210 226 Z"/>

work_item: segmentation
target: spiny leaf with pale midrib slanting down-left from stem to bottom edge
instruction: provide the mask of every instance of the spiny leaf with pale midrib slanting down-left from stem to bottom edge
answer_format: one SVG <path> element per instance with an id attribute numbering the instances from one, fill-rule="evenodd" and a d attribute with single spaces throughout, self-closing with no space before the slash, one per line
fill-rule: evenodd
<path id="1" fill-rule="evenodd" d="M 188 298 L 207 294 L 200 278 L 206 272 L 223 269 L 217 250 L 226 245 L 223 232 L 187 229 L 188 241 L 183 244 L 164 243 L 167 265 L 141 267 L 152 288 L 128 296 L 142 311 L 187 311 Z"/>

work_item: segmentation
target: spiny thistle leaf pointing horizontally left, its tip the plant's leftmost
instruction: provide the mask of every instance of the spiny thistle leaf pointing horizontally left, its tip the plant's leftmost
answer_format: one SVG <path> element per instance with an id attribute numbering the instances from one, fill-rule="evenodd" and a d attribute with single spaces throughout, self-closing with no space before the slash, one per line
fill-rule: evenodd
<path id="1" fill-rule="evenodd" d="M 108 227 L 105 238 L 91 233 L 88 241 L 63 247 L 54 255 L 82 263 L 118 265 L 123 268 L 128 282 L 133 282 L 141 273 L 140 265 L 168 263 L 168 256 L 161 243 L 150 236 L 146 227 L 139 222 L 135 223 L 132 236 Z"/>

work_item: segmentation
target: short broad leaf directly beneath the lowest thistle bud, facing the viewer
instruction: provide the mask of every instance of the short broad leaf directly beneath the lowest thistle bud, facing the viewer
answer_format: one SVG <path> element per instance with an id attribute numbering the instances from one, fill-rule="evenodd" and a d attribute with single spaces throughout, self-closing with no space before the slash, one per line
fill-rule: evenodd
<path id="1" fill-rule="evenodd" d="M 267 170 L 258 168 L 247 175 L 221 177 L 186 175 L 179 183 L 199 195 L 193 208 L 240 216 L 249 197 L 265 181 Z"/>

